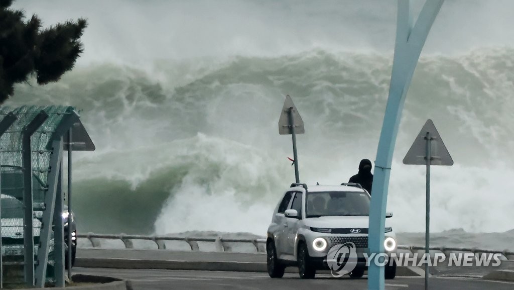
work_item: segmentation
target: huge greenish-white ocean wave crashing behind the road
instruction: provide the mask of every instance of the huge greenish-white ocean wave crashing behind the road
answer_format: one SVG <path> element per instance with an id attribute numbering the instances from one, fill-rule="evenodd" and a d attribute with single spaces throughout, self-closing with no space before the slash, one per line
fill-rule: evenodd
<path id="1" fill-rule="evenodd" d="M 97 146 L 75 154 L 82 231 L 263 234 L 294 180 L 284 96 L 305 122 L 300 178 L 338 184 L 374 159 L 392 54 L 315 49 L 277 57 L 160 61 L 152 70 L 79 65 L 54 84 L 16 88 L 8 105 L 81 109 Z M 401 119 L 388 209 L 396 231 L 424 229 L 423 166 L 401 159 L 431 118 L 454 161 L 432 170 L 432 230 L 512 229 L 514 49 L 420 59 Z"/>

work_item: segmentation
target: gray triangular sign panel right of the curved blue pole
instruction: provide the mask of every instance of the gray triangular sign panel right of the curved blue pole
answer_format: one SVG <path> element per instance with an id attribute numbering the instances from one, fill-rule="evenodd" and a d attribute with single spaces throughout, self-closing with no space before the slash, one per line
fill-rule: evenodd
<path id="1" fill-rule="evenodd" d="M 423 126 L 421 131 L 419 132 L 416 140 L 412 143 L 411 148 L 407 152 L 405 158 L 403 158 L 403 164 L 412 164 L 412 165 L 426 165 L 427 160 L 427 140 L 425 137 L 427 136 L 427 132 L 430 133 L 431 140 L 431 155 L 432 159 L 430 161 L 431 165 L 453 165 L 453 159 L 446 149 L 445 143 L 441 139 L 439 132 L 435 129 L 435 125 L 432 120 L 427 120 L 427 123 Z"/>

